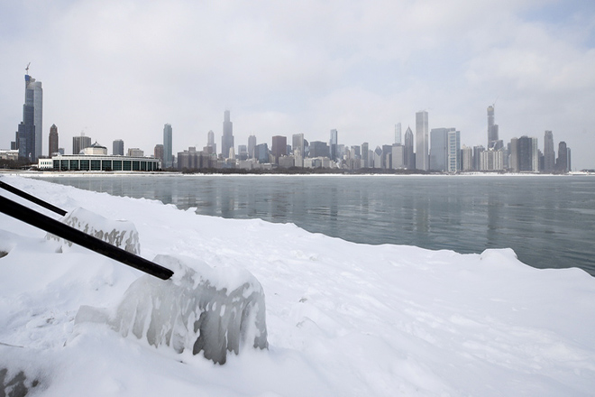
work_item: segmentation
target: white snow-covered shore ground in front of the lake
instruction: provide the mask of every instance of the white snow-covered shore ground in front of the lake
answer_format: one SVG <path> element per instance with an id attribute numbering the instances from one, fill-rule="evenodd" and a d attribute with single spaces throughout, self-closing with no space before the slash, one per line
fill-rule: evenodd
<path id="1" fill-rule="evenodd" d="M 45 232 L 0 214 L 2 387 L 24 377 L 29 395 L 46 396 L 595 394 L 595 279 L 581 270 L 537 270 L 511 250 L 357 245 L 294 225 L 0 179 L 59 208 L 132 221 L 147 259 L 183 255 L 252 272 L 269 342 L 215 365 L 103 324 L 75 326 L 80 306 L 113 308 L 142 273 L 80 247 L 57 253 Z"/>

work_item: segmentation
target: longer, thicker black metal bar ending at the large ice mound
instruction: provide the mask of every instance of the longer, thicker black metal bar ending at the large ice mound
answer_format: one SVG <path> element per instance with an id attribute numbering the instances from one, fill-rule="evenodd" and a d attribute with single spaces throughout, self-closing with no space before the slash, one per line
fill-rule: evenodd
<path id="1" fill-rule="evenodd" d="M 161 280 L 168 280 L 173 275 L 172 271 L 157 263 L 152 263 L 140 256 L 124 251 L 122 248 L 105 243 L 105 241 L 99 240 L 93 235 L 87 235 L 87 233 L 81 232 L 74 227 L 63 224 L 51 217 L 46 217 L 37 211 L 33 211 L 31 208 L 26 208 L 2 196 L 0 196 L 0 212 L 31 226 L 39 227 L 41 230 L 45 230 L 53 235 L 58 235 L 74 244 L 84 246 L 91 251 L 95 251 L 97 254 L 105 255 L 115 261 L 127 264 L 134 269 L 151 274 Z"/>

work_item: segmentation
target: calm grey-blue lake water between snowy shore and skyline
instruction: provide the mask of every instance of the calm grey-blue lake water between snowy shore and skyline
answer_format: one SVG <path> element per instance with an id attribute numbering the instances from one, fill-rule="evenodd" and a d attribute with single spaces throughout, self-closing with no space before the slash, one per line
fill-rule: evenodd
<path id="1" fill-rule="evenodd" d="M 364 244 L 458 253 L 510 247 L 538 268 L 595 275 L 595 177 L 105 175 L 44 177 L 197 214 L 294 223 Z"/>

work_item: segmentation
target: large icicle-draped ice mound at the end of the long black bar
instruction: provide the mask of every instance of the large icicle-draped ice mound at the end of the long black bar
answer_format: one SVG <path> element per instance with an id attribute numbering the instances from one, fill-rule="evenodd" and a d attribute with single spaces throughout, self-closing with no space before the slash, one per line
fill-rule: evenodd
<path id="1" fill-rule="evenodd" d="M 153 262 L 174 275 L 167 281 L 142 276 L 114 309 L 81 306 L 75 324 L 105 323 L 151 346 L 203 352 L 216 364 L 224 364 L 227 352 L 237 355 L 243 346 L 268 347 L 264 291 L 252 273 L 168 255 Z"/>

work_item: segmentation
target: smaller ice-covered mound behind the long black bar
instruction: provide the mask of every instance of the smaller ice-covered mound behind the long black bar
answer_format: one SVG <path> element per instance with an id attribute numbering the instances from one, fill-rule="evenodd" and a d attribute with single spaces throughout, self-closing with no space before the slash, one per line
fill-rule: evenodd
<path id="1" fill-rule="evenodd" d="M 87 235 L 93 235 L 106 243 L 122 248 L 129 253 L 141 254 L 139 234 L 134 224 L 130 221 L 107 219 L 80 207 L 70 211 L 60 221 L 87 233 Z M 62 240 L 50 233 L 46 235 L 46 238 Z M 64 243 L 69 246 L 72 245 L 69 241 L 64 241 Z"/>

